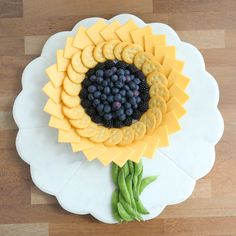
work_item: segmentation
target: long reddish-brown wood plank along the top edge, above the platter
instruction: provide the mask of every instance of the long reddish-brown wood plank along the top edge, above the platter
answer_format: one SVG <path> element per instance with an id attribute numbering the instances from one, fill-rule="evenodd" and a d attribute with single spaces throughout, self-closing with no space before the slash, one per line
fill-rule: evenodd
<path id="1" fill-rule="evenodd" d="M 96 6 L 96 7 L 94 7 Z M 24 16 L 68 16 L 68 15 L 88 15 L 97 16 L 98 14 L 119 14 L 123 12 L 130 13 L 148 13 L 153 12 L 152 0 L 120 0 L 106 1 L 101 0 L 24 0 Z"/>

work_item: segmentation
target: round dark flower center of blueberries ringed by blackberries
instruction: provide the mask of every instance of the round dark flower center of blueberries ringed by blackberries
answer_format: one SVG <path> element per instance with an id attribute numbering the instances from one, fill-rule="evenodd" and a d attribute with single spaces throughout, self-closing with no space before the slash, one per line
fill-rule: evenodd
<path id="1" fill-rule="evenodd" d="M 79 96 L 93 122 L 109 128 L 139 120 L 150 98 L 145 76 L 136 66 L 110 60 L 87 72 Z"/>

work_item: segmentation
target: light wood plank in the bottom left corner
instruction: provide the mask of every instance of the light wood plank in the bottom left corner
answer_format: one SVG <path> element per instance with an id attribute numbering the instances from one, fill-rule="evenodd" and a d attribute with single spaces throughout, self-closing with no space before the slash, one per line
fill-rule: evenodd
<path id="1" fill-rule="evenodd" d="M 2 224 L 0 233 L 4 236 L 48 236 L 48 224 Z"/>

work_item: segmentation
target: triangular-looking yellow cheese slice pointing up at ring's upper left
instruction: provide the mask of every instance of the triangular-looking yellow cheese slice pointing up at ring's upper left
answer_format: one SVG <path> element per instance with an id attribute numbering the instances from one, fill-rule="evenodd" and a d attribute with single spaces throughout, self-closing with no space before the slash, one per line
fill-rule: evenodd
<path id="1" fill-rule="evenodd" d="M 73 46 L 79 49 L 84 49 L 85 47 L 89 45 L 93 45 L 93 41 L 88 37 L 86 34 L 86 28 L 83 26 L 79 27 L 79 30 L 77 31 Z"/>

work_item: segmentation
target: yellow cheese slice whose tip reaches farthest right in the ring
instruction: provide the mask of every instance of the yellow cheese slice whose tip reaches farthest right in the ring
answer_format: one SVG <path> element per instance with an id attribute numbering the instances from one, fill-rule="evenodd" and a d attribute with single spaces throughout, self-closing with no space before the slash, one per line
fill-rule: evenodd
<path id="1" fill-rule="evenodd" d="M 177 84 L 180 88 L 185 89 L 187 88 L 190 79 L 179 73 L 176 70 L 172 70 L 168 77 L 168 88 L 170 88 L 173 84 Z"/>

